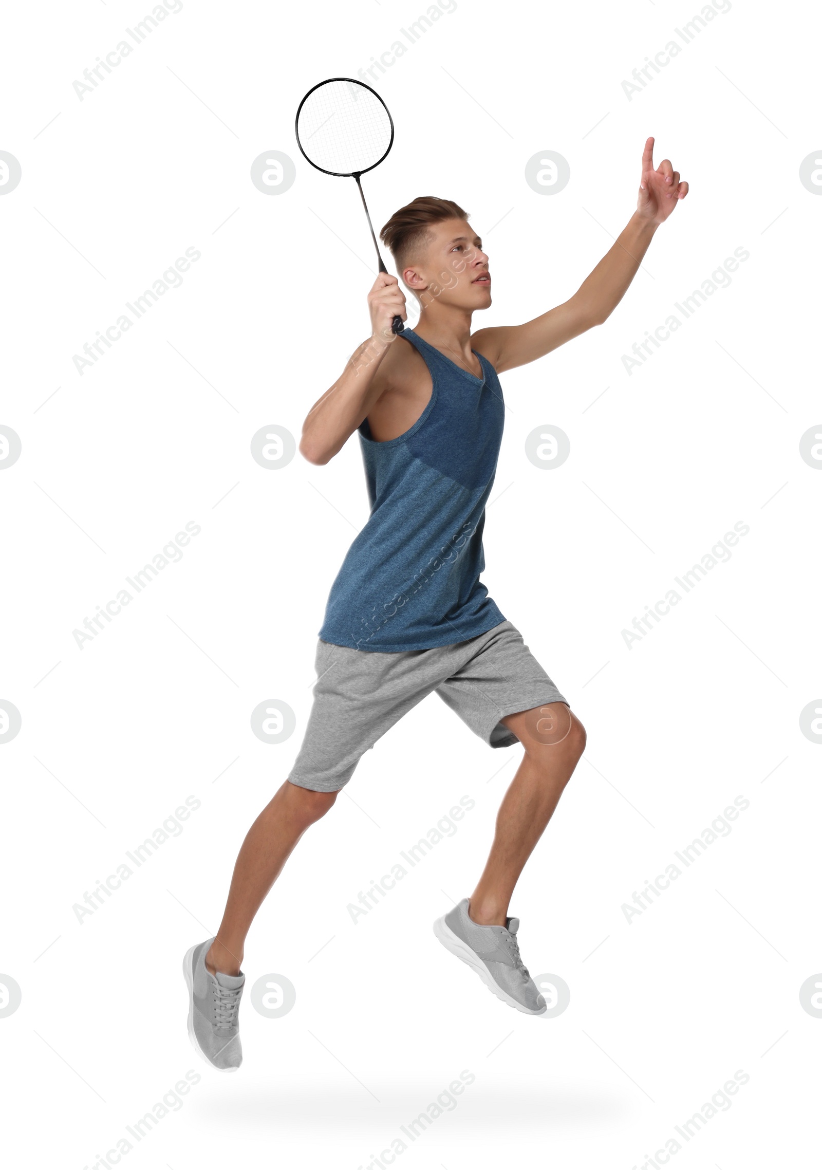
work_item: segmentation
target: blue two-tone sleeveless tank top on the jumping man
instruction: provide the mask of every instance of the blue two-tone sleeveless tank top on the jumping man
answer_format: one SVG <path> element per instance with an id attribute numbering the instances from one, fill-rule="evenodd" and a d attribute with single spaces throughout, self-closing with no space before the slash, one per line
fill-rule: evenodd
<path id="1" fill-rule="evenodd" d="M 359 427 L 371 515 L 319 631 L 323 641 L 360 651 L 449 646 L 505 621 L 479 581 L 505 415 L 499 379 L 481 353 L 477 378 L 413 329 L 400 339 L 428 366 L 431 397 L 396 439 L 373 440 L 367 419 Z"/>

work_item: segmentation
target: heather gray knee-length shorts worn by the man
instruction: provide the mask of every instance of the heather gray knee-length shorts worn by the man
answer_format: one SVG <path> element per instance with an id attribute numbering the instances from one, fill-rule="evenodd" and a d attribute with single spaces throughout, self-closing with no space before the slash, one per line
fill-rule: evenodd
<path id="1" fill-rule="evenodd" d="M 433 690 L 491 748 L 518 742 L 504 716 L 567 703 L 510 621 L 428 651 L 354 651 L 320 639 L 315 669 L 313 706 L 289 779 L 316 792 L 347 784 L 362 753 Z"/>

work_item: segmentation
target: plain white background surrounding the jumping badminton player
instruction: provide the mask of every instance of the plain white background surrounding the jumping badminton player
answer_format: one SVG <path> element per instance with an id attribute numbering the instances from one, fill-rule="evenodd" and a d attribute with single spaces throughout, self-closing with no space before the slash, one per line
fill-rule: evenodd
<path id="1" fill-rule="evenodd" d="M 185 0 L 80 101 L 72 82 L 150 11 L 18 5 L 2 28 L 0 150 L 22 167 L 0 199 L 0 424 L 22 443 L 0 476 L 0 700 L 22 718 L 0 745 L 0 972 L 22 990 L 0 1019 L 9 1164 L 95 1165 L 189 1068 L 199 1083 L 123 1164 L 367 1166 L 463 1069 L 474 1083 L 399 1164 L 630 1170 L 738 1069 L 730 1108 L 670 1161 L 810 1164 L 822 1021 L 799 989 L 822 969 L 822 748 L 799 716 L 822 693 L 822 475 L 799 442 L 822 413 L 822 199 L 799 170 L 822 145 L 818 14 L 734 0 L 629 99 L 698 4 L 460 0 L 379 76 L 396 139 L 367 176 L 374 222 L 419 194 L 469 209 L 495 277 L 477 328 L 578 288 L 633 212 L 648 135 L 691 184 L 609 321 L 503 378 L 484 580 L 588 731 L 511 913 L 530 970 L 571 1003 L 514 1013 L 431 934 L 472 890 L 521 753 L 431 696 L 264 904 L 249 987 L 283 975 L 296 1005 L 267 1019 L 247 997 L 244 1064 L 223 1078 L 189 1047 L 181 958 L 288 776 L 327 591 L 367 517 L 355 440 L 325 467 L 250 456 L 262 427 L 298 438 L 368 331 L 355 187 L 308 166 L 293 115 L 426 6 Z M 249 171 L 271 150 L 297 178 L 265 195 Z M 545 150 L 571 166 L 547 197 L 524 178 Z M 181 287 L 81 376 L 74 355 L 188 247 Z M 622 355 L 739 247 L 730 287 L 629 376 Z M 543 425 L 569 436 L 560 468 L 525 456 Z M 181 562 L 80 649 L 72 632 L 188 521 Z M 732 558 L 628 648 L 739 521 Z M 279 745 L 250 728 L 268 700 L 296 714 Z M 188 796 L 184 832 L 78 922 Z M 456 835 L 354 924 L 348 903 L 462 796 Z M 731 834 L 628 922 L 735 797 Z"/>

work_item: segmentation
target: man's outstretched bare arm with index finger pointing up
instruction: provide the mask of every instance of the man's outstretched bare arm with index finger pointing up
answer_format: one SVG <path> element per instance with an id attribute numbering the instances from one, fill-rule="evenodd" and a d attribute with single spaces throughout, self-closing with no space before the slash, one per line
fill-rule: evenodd
<path id="1" fill-rule="evenodd" d="M 654 139 L 649 138 L 642 154 L 636 211 L 571 300 L 524 325 L 481 329 L 471 338 L 472 347 L 502 372 L 536 362 L 572 337 L 601 325 L 624 296 L 657 227 L 686 194 L 688 184 L 681 181 L 669 159 L 654 170 Z"/>

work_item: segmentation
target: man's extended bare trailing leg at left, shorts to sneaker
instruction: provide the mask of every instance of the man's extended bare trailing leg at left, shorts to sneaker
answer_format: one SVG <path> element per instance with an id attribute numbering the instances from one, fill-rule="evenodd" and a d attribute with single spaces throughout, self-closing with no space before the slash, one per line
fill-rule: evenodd
<path id="1" fill-rule="evenodd" d="M 217 971 L 240 973 L 246 935 L 263 899 L 305 830 L 319 820 L 336 799 L 336 792 L 315 792 L 285 780 L 260 813 L 237 854 L 226 911 L 206 955 L 206 966 L 212 975 Z"/>

